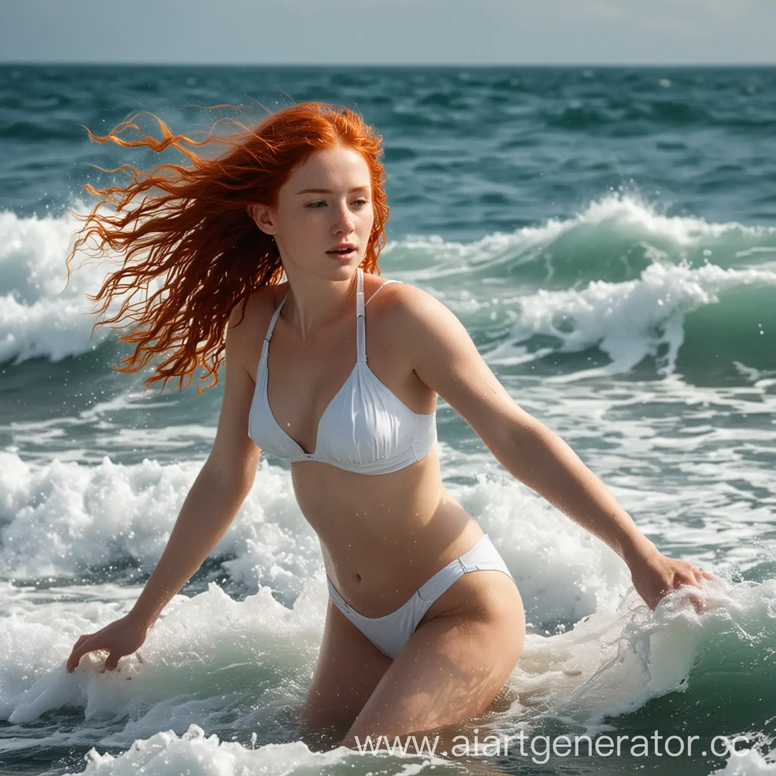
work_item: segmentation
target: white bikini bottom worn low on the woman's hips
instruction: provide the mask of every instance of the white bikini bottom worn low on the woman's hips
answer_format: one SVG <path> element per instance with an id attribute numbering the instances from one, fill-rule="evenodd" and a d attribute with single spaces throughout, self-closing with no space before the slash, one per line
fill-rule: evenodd
<path id="1" fill-rule="evenodd" d="M 331 600 L 350 622 L 358 628 L 369 641 L 372 642 L 383 654 L 395 659 L 401 648 L 410 640 L 417 625 L 423 619 L 426 611 L 456 580 L 464 574 L 472 571 L 503 571 L 514 582 L 514 577 L 509 573 L 507 564 L 498 554 L 493 542 L 487 534 L 482 539 L 463 553 L 462 556 L 451 560 L 443 569 L 438 570 L 428 582 L 414 592 L 407 603 L 401 605 L 390 615 L 383 617 L 365 617 L 348 604 L 332 584 L 329 575 L 326 581 L 329 587 Z M 517 584 L 517 583 L 515 583 Z"/>

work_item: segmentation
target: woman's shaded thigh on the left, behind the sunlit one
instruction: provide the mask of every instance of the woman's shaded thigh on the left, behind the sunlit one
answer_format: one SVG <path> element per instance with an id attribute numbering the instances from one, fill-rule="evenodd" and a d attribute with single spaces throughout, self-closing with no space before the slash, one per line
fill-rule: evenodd
<path id="1" fill-rule="evenodd" d="M 392 662 L 330 598 L 324 637 L 303 708 L 307 735 L 340 729 L 344 733 Z"/>

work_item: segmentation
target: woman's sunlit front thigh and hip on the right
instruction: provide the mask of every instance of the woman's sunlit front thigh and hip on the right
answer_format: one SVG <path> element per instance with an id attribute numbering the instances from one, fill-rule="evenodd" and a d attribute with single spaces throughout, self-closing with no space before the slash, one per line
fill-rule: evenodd
<path id="1" fill-rule="evenodd" d="M 355 736 L 402 736 L 462 722 L 484 712 L 504 687 L 525 641 L 514 582 L 501 571 L 476 571 L 452 584 L 442 604 L 443 597 L 443 613 L 421 622 L 390 664 L 345 746 L 355 746 Z"/>

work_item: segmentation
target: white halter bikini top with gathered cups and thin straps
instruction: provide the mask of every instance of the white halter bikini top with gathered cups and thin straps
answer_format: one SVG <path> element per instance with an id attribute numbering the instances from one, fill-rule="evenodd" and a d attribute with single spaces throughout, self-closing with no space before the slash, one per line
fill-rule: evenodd
<path id="1" fill-rule="evenodd" d="M 401 281 L 389 280 L 383 286 L 391 282 Z M 378 292 L 379 289 L 375 294 Z M 275 421 L 267 395 L 269 340 L 286 299 L 288 294 L 272 316 L 258 362 L 256 390 L 248 414 L 248 435 L 256 445 L 268 455 L 286 458 L 292 463 L 320 461 L 359 474 L 388 474 L 424 458 L 437 442 L 436 412 L 411 411 L 369 369 L 364 275 L 360 267 L 355 294 L 358 360 L 320 417 L 314 452 L 304 452 L 286 434 Z"/>

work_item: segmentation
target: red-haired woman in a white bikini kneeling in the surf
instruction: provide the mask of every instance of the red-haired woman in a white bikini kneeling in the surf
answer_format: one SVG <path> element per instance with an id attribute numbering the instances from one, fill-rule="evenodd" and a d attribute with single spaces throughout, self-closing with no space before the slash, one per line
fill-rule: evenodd
<path id="1" fill-rule="evenodd" d="M 137 129 L 131 122 L 90 135 L 174 147 L 192 165 L 147 176 L 125 165 L 126 187 L 90 189 L 116 213 L 95 207 L 85 217 L 68 264 L 89 237 L 125 253 L 93 297 L 103 311 L 119 289 L 161 279 L 161 292 L 125 302 L 105 321 L 130 310 L 138 321 L 125 338 L 140 343 L 125 370 L 165 352 L 149 383 L 190 382 L 198 365 L 217 381 L 225 348 L 223 403 L 213 449 L 140 598 L 125 617 L 78 639 L 69 671 L 93 650 L 109 653 L 112 670 L 138 649 L 229 527 L 265 449 L 291 462 L 327 570 L 307 729 L 339 730 L 352 747 L 357 736 L 401 736 L 480 715 L 518 663 L 525 618 L 501 556 L 442 482 L 437 397 L 513 476 L 615 549 L 650 607 L 709 576 L 656 550 L 569 447 L 514 403 L 442 303 L 381 282 L 381 138 L 359 116 L 306 103 L 202 143 L 159 123 L 162 141 L 142 133 L 123 140 Z M 206 160 L 193 150 L 204 142 L 228 150 Z M 161 193 L 151 196 L 154 188 Z"/>

